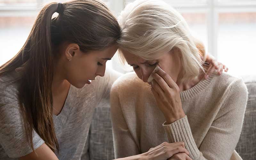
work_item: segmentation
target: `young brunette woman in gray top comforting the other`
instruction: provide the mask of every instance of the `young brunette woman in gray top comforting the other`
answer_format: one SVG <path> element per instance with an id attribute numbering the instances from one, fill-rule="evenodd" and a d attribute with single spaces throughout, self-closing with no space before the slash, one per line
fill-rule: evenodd
<path id="1" fill-rule="evenodd" d="M 81 159 L 93 110 L 120 75 L 105 74 L 120 33 L 100 1 L 44 6 L 24 46 L 0 67 L 1 160 Z M 169 158 L 162 148 L 157 156 Z"/>

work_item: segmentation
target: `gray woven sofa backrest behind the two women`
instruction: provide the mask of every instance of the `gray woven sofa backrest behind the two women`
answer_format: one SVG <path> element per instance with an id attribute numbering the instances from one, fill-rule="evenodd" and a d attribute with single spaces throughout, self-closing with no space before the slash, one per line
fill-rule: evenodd
<path id="1" fill-rule="evenodd" d="M 243 160 L 255 160 L 256 157 L 256 76 L 244 77 L 248 88 L 244 124 L 236 151 Z M 111 160 L 114 159 L 112 125 L 108 100 L 95 108 L 86 143 L 87 156 L 82 160 Z M 89 155 L 88 155 L 89 154 Z"/>

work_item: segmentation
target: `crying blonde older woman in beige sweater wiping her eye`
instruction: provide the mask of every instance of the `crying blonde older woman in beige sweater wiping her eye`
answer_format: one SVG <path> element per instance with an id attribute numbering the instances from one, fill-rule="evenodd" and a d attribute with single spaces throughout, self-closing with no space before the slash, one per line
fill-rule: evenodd
<path id="1" fill-rule="evenodd" d="M 204 79 L 185 20 L 163 1 L 136 0 L 119 22 L 120 55 L 135 73 L 120 77 L 111 90 L 115 157 L 182 142 L 189 155 L 170 160 L 240 159 L 234 149 L 247 100 L 242 79 L 216 72 Z M 152 73 L 156 66 L 162 69 Z M 154 80 L 147 83 L 150 75 Z"/>

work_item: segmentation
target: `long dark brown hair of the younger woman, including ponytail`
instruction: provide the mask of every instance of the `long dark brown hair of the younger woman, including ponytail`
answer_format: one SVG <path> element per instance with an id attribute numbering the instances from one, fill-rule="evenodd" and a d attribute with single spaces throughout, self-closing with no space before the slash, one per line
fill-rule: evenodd
<path id="1" fill-rule="evenodd" d="M 52 149 L 59 151 L 52 118 L 53 52 L 62 42 L 78 44 L 83 52 L 102 50 L 120 37 L 120 27 L 108 7 L 97 0 L 58 3 L 39 12 L 20 51 L 0 67 L 0 76 L 24 68 L 19 79 L 18 97 L 27 139 L 33 147 L 33 129 Z"/>

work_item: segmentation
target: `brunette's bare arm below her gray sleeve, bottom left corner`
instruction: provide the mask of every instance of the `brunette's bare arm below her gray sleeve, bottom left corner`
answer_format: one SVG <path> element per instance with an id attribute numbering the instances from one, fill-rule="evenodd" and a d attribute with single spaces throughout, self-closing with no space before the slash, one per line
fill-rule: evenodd
<path id="1" fill-rule="evenodd" d="M 59 160 L 52 150 L 44 143 L 34 152 L 19 158 L 20 160 Z"/>

